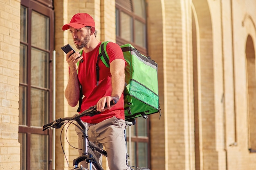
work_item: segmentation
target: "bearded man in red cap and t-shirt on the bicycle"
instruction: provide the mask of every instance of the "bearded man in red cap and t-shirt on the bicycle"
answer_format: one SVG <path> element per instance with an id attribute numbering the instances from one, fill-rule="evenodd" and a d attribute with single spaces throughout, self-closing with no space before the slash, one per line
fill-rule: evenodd
<path id="1" fill-rule="evenodd" d="M 93 105 L 97 105 L 97 111 L 101 112 L 93 117 L 81 118 L 89 123 L 89 140 L 106 148 L 110 170 L 128 170 L 130 168 L 126 165 L 123 96 L 126 62 L 121 48 L 115 43 L 108 43 L 106 50 L 110 68 L 107 68 L 99 59 L 99 84 L 97 85 L 96 63 L 101 42 L 96 39 L 97 31 L 93 18 L 87 13 L 77 13 L 62 29 L 63 31 L 69 29 L 76 48 L 83 49 L 82 56 L 79 52 L 72 54 L 72 50 L 66 55 L 69 65 L 69 80 L 65 89 L 67 102 L 72 107 L 77 105 L 81 85 L 84 98 L 80 113 Z M 79 61 L 78 69 L 76 63 Z M 117 104 L 110 107 L 110 101 L 114 99 Z M 107 108 L 104 108 L 106 103 Z M 76 133 L 79 148 L 82 148 L 82 133 L 77 128 Z M 81 155 L 81 150 L 79 151 Z M 87 165 L 83 163 L 83 166 Z"/>

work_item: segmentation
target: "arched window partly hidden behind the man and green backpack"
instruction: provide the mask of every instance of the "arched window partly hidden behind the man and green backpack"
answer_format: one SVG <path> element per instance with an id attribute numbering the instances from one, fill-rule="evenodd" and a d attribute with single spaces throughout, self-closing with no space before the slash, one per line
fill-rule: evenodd
<path id="1" fill-rule="evenodd" d="M 117 44 L 132 44 L 147 56 L 145 0 L 116 0 Z M 150 116 L 149 116 L 150 117 Z M 136 124 L 127 130 L 128 164 L 150 167 L 148 119 L 136 118 Z"/>

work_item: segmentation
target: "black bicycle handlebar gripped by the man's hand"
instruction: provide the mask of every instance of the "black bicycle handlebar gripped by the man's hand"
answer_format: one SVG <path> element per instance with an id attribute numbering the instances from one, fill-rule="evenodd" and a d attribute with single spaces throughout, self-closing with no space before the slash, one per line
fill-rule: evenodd
<path id="1" fill-rule="evenodd" d="M 115 105 L 116 103 L 117 103 L 116 100 L 110 101 L 110 105 Z M 107 107 L 107 103 L 105 104 L 105 107 Z M 83 116 L 91 116 L 92 117 L 99 113 L 101 113 L 101 112 L 97 111 L 97 105 L 94 105 L 94 106 L 90 107 L 89 109 L 86 109 L 85 111 L 83 111 L 80 114 L 75 114 L 72 117 L 59 118 L 59 119 L 54 120 L 53 122 L 43 125 L 43 131 L 45 131 L 46 129 L 49 129 L 50 127 L 59 129 L 65 123 L 65 121 L 77 120 Z"/>

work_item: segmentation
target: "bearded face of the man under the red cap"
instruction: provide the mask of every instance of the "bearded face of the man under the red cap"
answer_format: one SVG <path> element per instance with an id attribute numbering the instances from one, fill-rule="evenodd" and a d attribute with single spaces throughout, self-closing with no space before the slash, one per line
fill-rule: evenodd
<path id="1" fill-rule="evenodd" d="M 76 45 L 77 49 L 82 49 L 83 47 L 88 45 L 90 41 L 90 29 L 83 27 L 81 29 L 75 29 L 70 27 L 70 33 L 72 35 L 74 44 Z"/>

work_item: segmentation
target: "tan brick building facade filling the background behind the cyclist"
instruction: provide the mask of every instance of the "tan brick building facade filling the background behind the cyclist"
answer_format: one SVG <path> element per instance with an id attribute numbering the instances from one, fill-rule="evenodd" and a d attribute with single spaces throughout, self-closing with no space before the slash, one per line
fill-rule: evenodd
<path id="1" fill-rule="evenodd" d="M 35 169 L 38 157 L 44 163 L 36 169 L 72 167 L 74 127 L 41 128 L 53 115 L 76 113 L 64 96 L 68 66 L 61 50 L 73 44 L 72 37 L 61 28 L 75 13 L 89 13 L 97 39 L 122 43 L 117 9 L 130 5 L 132 11 L 134 1 L 0 0 L 1 170 Z M 146 165 L 152 170 L 254 170 L 256 1 L 145 3 L 146 22 L 138 20 L 146 24 L 146 46 L 138 48 L 158 63 L 162 113 L 147 120 Z"/>

